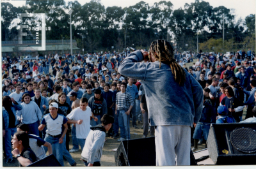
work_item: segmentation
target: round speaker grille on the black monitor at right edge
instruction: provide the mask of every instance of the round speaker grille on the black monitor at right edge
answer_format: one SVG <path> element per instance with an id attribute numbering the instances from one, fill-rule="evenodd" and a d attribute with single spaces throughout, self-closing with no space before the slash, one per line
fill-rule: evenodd
<path id="1" fill-rule="evenodd" d="M 230 142 L 240 152 L 256 152 L 256 131 L 252 128 L 236 128 L 230 133 Z"/>

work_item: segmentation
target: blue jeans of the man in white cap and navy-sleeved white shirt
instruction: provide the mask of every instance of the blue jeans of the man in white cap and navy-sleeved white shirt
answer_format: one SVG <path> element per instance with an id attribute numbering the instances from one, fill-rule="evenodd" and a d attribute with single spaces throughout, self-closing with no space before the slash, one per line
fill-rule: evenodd
<path id="1" fill-rule="evenodd" d="M 53 138 L 52 136 L 46 135 L 44 140 L 45 142 L 49 142 L 52 145 L 52 154 L 56 157 L 56 159 L 60 162 L 61 166 L 64 166 L 63 161 L 63 146 L 64 143 L 59 143 L 60 138 Z M 64 140 L 63 140 L 64 141 Z M 45 152 L 47 152 L 47 147 L 44 147 Z"/>

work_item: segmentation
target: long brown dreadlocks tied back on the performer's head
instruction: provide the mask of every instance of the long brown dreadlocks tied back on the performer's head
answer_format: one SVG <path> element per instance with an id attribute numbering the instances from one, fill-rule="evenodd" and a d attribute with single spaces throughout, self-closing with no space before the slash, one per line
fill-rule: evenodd
<path id="1" fill-rule="evenodd" d="M 155 40 L 151 43 L 148 51 L 148 60 L 150 60 L 150 55 L 154 55 L 157 61 L 160 62 L 159 68 L 161 68 L 161 62 L 164 64 L 169 64 L 172 70 L 172 74 L 175 82 L 179 85 L 184 85 L 186 80 L 186 73 L 184 69 L 176 62 L 174 58 L 174 50 L 172 45 L 165 40 Z"/>

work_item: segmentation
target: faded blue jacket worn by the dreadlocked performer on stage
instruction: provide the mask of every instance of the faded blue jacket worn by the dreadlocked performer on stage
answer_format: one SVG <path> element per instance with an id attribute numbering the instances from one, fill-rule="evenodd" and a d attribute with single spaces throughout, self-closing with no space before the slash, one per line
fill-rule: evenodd
<path id="1" fill-rule="evenodd" d="M 175 82 L 170 65 L 141 62 L 140 50 L 129 54 L 118 71 L 126 77 L 143 82 L 147 99 L 150 126 L 193 126 L 200 120 L 203 106 L 203 89 L 192 75 L 186 72 L 183 86 Z"/>

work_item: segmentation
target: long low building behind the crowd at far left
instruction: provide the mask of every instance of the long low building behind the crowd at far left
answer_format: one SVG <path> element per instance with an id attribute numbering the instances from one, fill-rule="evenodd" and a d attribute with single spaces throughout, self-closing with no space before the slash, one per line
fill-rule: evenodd
<path id="1" fill-rule="evenodd" d="M 41 44 L 41 41 L 39 41 Z M 77 47 L 76 40 L 72 41 L 73 45 L 73 54 L 78 54 L 80 52 L 80 48 Z M 27 47 L 29 50 L 19 50 L 19 47 Z M 35 40 L 22 41 L 22 45 L 19 44 L 19 41 L 2 41 L 2 57 L 6 56 L 27 56 L 31 55 L 35 57 L 36 55 L 49 55 L 49 54 L 57 54 L 62 55 L 62 51 L 64 54 L 70 54 L 70 40 L 46 40 L 45 42 L 45 51 L 37 51 L 33 47 L 40 47 L 35 44 Z"/>

